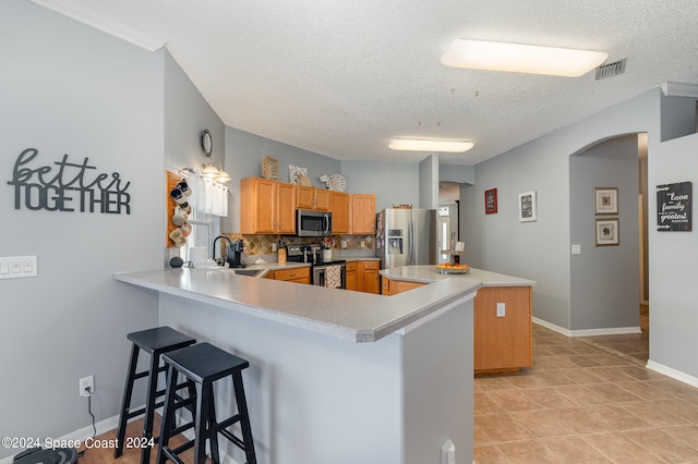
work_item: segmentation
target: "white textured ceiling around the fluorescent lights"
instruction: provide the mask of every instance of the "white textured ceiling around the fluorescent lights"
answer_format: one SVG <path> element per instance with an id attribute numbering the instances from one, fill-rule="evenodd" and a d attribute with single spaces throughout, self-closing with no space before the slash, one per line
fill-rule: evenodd
<path id="1" fill-rule="evenodd" d="M 428 154 L 387 148 L 413 136 L 470 139 L 440 161 L 473 164 L 663 82 L 698 83 L 695 0 L 34 1 L 167 42 L 226 125 L 339 160 L 417 162 Z M 606 51 L 626 72 L 443 66 L 459 37 Z"/>

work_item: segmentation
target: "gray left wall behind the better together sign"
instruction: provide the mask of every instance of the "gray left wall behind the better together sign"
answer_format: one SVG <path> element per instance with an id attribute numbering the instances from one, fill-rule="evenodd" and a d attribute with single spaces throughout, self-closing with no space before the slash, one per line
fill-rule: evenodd
<path id="1" fill-rule="evenodd" d="M 163 53 L 25 1 L 0 2 L 0 256 L 38 256 L 38 277 L 0 280 L 0 436 L 58 438 L 91 423 L 81 377 L 95 376 L 97 420 L 117 414 L 125 334 L 157 323 L 157 296 L 111 276 L 161 266 Z M 131 213 L 14 209 L 28 147 L 35 167 L 68 154 L 120 173 Z"/>

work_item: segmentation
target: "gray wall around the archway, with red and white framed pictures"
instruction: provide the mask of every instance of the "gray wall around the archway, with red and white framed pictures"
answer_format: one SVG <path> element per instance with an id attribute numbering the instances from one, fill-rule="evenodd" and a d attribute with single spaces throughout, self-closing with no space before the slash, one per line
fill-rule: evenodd
<path id="1" fill-rule="evenodd" d="M 478 164 L 477 185 L 461 188 L 466 262 L 535 280 L 533 316 L 571 329 L 569 157 L 624 134 L 649 132 L 650 144 L 657 144 L 659 91 L 645 93 Z M 493 187 L 498 212 L 485 215 L 484 191 Z M 518 194 L 528 191 L 538 195 L 538 221 L 519 222 Z"/>

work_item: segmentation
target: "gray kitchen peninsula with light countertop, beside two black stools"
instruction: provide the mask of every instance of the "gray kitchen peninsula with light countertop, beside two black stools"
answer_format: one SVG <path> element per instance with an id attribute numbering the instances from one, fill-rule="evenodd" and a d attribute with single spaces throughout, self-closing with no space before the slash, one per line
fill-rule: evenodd
<path id="1" fill-rule="evenodd" d="M 160 325 L 250 361 L 260 463 L 437 463 L 447 440 L 458 461 L 472 461 L 479 280 L 437 279 L 383 296 L 230 270 L 115 279 L 158 292 Z M 230 407 L 226 395 L 217 401 Z"/>

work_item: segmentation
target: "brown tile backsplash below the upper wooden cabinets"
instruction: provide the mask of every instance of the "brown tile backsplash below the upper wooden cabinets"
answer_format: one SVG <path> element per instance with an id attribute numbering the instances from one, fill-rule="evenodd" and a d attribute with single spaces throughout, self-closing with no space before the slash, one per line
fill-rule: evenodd
<path id="1" fill-rule="evenodd" d="M 287 245 L 310 245 L 321 243 L 320 237 L 301 237 L 293 235 L 248 235 L 240 233 L 226 233 L 230 240 L 236 241 L 242 239 L 244 246 L 248 248 L 248 255 L 270 255 L 275 253 L 272 249 L 273 244 L 284 242 Z M 373 245 L 375 243 L 374 235 L 333 235 L 332 249 L 334 251 L 365 251 L 373 254 Z M 345 248 L 341 247 L 342 241 L 347 243 Z M 361 246 L 363 242 L 363 247 Z"/>

